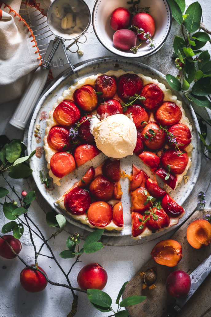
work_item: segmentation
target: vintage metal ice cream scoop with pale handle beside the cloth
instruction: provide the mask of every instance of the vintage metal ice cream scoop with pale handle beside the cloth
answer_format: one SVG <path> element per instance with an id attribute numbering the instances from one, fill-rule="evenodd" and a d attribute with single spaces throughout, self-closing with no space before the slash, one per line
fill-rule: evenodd
<path id="1" fill-rule="evenodd" d="M 50 41 L 42 65 L 36 69 L 9 121 L 12 126 L 20 130 L 24 130 L 26 127 L 51 67 L 59 67 L 69 63 L 77 77 L 63 41 L 77 42 L 89 28 L 90 21 L 90 10 L 83 0 L 55 0 L 50 5 L 47 23 L 56 37 L 54 41 Z"/>

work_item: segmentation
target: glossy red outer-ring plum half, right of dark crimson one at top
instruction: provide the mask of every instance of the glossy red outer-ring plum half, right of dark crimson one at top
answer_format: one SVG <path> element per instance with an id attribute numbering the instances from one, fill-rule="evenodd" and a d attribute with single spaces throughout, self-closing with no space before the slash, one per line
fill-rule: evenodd
<path id="1" fill-rule="evenodd" d="M 157 85 L 148 84 L 143 87 L 141 96 L 146 98 L 146 100 L 142 101 L 144 107 L 150 111 L 154 111 L 162 105 L 164 93 Z"/>

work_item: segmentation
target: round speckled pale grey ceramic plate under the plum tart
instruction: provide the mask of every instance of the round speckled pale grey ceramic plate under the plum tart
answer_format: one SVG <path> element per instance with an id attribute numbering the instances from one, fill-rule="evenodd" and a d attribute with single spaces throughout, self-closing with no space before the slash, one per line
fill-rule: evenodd
<path id="1" fill-rule="evenodd" d="M 89 61 L 87 63 L 84 63 L 81 66 L 78 66 L 76 69 L 78 71 L 78 80 L 82 79 L 83 77 L 89 76 L 89 75 L 96 75 L 98 73 L 106 73 L 107 71 L 114 69 L 123 69 L 124 71 L 131 71 L 133 70 L 134 73 L 142 73 L 145 76 L 150 76 L 153 79 L 158 79 L 159 82 L 163 83 L 167 88 L 170 88 L 165 76 L 158 72 L 157 70 L 141 64 L 138 61 L 127 61 L 127 59 L 124 58 L 100 58 L 95 61 Z M 65 71 L 66 72 L 66 71 Z M 48 90 L 46 93 L 44 93 L 40 100 L 37 103 L 37 106 L 35 108 L 34 114 L 31 119 L 31 123 L 29 126 L 28 131 L 28 153 L 31 153 L 33 150 L 36 149 L 37 146 L 43 146 L 43 137 L 45 135 L 45 128 L 46 128 L 46 121 L 40 121 L 40 114 L 42 111 L 46 111 L 47 114 L 49 111 L 52 110 L 53 104 L 56 102 L 59 96 L 62 95 L 63 91 L 67 89 L 67 87 L 71 86 L 74 82 L 76 82 L 77 79 L 72 74 L 72 71 L 66 72 L 66 74 L 63 73 L 63 75 L 60 77 L 59 80 L 57 80 Z M 192 166 L 188 170 L 187 175 L 189 176 L 188 181 L 186 184 L 184 184 L 184 181 L 182 182 L 181 186 L 177 187 L 175 191 L 171 192 L 171 196 L 177 201 L 178 204 L 182 205 L 185 200 L 189 197 L 189 194 L 191 193 L 192 189 L 195 186 L 196 180 L 199 175 L 199 171 L 201 168 L 201 145 L 200 145 L 200 139 L 198 137 L 197 131 L 199 130 L 198 121 L 196 119 L 195 113 L 193 111 L 192 106 L 187 103 L 187 101 L 184 99 L 182 93 L 178 93 L 175 91 L 172 91 L 173 94 L 177 96 L 178 100 L 181 100 L 183 102 L 183 108 L 185 110 L 186 116 L 188 117 L 190 124 L 192 125 L 193 131 L 193 140 L 192 144 L 194 147 L 194 150 L 192 152 Z M 36 143 L 36 138 L 34 137 L 34 130 L 36 129 L 36 125 L 40 125 L 40 133 L 41 133 L 41 142 L 39 144 Z M 48 204 L 56 210 L 58 213 L 62 213 L 65 215 L 67 221 L 70 223 L 83 228 L 88 231 L 93 231 L 90 227 L 82 224 L 81 222 L 78 222 L 77 220 L 74 220 L 69 214 L 67 214 L 64 210 L 59 209 L 59 207 L 54 204 L 54 202 L 64 194 L 65 191 L 67 191 L 76 181 L 78 181 L 85 172 L 88 170 L 90 165 L 93 165 L 94 168 L 102 163 L 104 159 L 107 157 L 101 153 L 98 156 L 96 156 L 91 161 L 85 163 L 84 165 L 80 166 L 76 171 L 74 171 L 72 174 L 67 175 L 61 180 L 61 186 L 55 185 L 55 189 L 53 191 L 48 191 L 45 189 L 44 184 L 41 184 L 39 171 L 42 168 L 42 165 L 44 167 L 47 167 L 47 162 L 45 160 L 45 152 L 43 153 L 41 159 L 38 159 L 36 156 L 34 156 L 30 160 L 30 166 L 33 169 L 33 177 L 35 180 L 35 183 L 37 187 L 40 190 L 40 193 L 42 196 L 46 199 Z M 136 156 L 127 156 L 123 159 L 120 159 L 121 163 L 121 170 L 125 171 L 126 173 L 130 174 L 132 172 L 132 164 L 135 164 L 140 169 L 143 169 L 146 171 L 148 175 L 151 175 L 150 169 L 142 163 L 142 161 Z M 129 180 L 127 178 L 122 178 L 120 180 L 121 182 L 121 188 L 123 191 L 122 196 L 122 206 L 123 206 L 123 215 L 124 215 L 124 229 L 121 231 L 107 231 L 105 230 L 104 234 L 107 236 L 125 236 L 125 235 L 131 235 L 131 215 L 130 215 L 130 207 L 131 207 L 131 200 L 130 200 L 130 194 L 128 192 L 128 186 L 129 186 Z M 161 187 L 163 187 L 163 182 L 158 179 L 158 183 Z M 180 219 L 179 224 L 181 224 L 187 217 L 189 216 L 188 213 L 185 213 L 183 218 Z M 177 226 L 179 225 L 177 224 Z M 171 228 L 174 229 L 176 226 L 172 226 Z M 171 229 L 170 228 L 170 229 Z M 170 230 L 169 229 L 169 230 Z M 156 238 L 156 234 L 154 235 Z"/>

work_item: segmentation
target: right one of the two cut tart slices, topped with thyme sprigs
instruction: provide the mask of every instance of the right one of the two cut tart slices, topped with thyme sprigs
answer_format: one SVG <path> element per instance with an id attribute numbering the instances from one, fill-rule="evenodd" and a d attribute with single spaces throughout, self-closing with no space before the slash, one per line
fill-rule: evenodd
<path id="1" fill-rule="evenodd" d="M 130 179 L 133 239 L 168 229 L 183 217 L 183 207 L 135 165 Z"/>

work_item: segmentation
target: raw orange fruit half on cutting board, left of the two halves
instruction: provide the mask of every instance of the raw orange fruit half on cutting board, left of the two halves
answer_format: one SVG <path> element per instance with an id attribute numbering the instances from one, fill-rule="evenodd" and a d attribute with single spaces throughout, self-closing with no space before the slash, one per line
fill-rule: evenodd
<path id="1" fill-rule="evenodd" d="M 183 257 L 182 246 L 172 239 L 162 240 L 154 246 L 151 256 L 158 264 L 176 266 Z"/>

